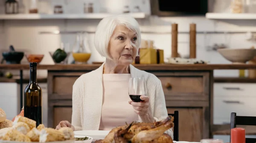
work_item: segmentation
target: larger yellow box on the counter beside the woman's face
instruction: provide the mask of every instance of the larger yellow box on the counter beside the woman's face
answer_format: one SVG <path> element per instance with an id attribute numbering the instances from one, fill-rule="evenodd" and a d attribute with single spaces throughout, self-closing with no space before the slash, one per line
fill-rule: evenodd
<path id="1" fill-rule="evenodd" d="M 140 48 L 140 64 L 157 64 L 157 49 Z"/>

